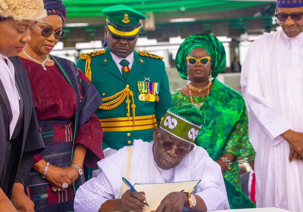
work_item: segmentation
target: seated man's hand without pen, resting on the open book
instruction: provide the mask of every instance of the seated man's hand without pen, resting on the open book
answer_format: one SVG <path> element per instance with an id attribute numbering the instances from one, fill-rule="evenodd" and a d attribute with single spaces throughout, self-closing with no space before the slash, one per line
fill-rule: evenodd
<path id="1" fill-rule="evenodd" d="M 171 192 L 161 201 L 157 210 L 152 212 L 180 212 L 188 203 L 188 194 L 184 192 Z"/>

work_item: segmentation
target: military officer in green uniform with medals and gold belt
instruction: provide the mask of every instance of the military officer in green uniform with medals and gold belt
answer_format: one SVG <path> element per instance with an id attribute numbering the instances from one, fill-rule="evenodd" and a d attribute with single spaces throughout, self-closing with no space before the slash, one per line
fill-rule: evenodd
<path id="1" fill-rule="evenodd" d="M 152 132 L 172 107 L 162 57 L 135 51 L 140 19 L 146 16 L 125 5 L 105 8 L 105 50 L 81 54 L 77 66 L 103 98 L 96 111 L 104 131 L 104 154 L 132 145 L 134 139 L 152 141 Z"/>

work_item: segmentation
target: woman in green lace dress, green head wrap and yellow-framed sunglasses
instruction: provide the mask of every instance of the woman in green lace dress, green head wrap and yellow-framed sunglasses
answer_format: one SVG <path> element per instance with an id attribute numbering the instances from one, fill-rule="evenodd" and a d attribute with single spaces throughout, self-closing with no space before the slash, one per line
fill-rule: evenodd
<path id="1" fill-rule="evenodd" d="M 216 79 L 226 65 L 222 43 L 213 35 L 191 35 L 180 45 L 176 67 L 190 83 L 172 92 L 173 105 L 194 104 L 205 117 L 196 144 L 222 170 L 231 209 L 255 204 L 242 193 L 238 163 L 254 160 L 248 141 L 248 117 L 242 95 Z"/>

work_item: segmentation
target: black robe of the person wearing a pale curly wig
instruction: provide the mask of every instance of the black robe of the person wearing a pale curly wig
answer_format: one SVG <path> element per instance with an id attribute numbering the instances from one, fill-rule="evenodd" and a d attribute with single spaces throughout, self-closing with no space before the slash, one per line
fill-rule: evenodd
<path id="1" fill-rule="evenodd" d="M 45 146 L 38 127 L 35 108 L 32 102 L 32 91 L 26 70 L 18 57 L 10 57 L 9 60 L 14 65 L 15 81 L 18 86 L 19 95 L 21 94 L 21 105 L 23 105 L 22 116 L 19 117 L 20 120 L 18 122 L 19 126 L 18 129 L 15 129 L 18 131 L 16 134 L 14 131 L 15 135 L 9 141 L 11 142 L 11 152 L 8 154 L 9 160 L 5 160 L 7 144 L 9 143 L 11 114 L 9 114 L 9 106 L 6 107 L 7 102 L 5 104 L 6 93 L 3 93 L 2 89 L 0 96 L 0 177 L 3 177 L 1 179 L 1 188 L 10 198 L 17 172 L 22 172 L 26 185 L 32 167 L 33 156 L 42 152 Z M 0 83 L 2 83 L 1 80 Z M 5 163 L 7 168 L 3 172 Z M 18 171 L 20 167 L 23 167 L 25 170 Z M 2 173 L 5 173 L 5 175 L 2 176 Z"/>

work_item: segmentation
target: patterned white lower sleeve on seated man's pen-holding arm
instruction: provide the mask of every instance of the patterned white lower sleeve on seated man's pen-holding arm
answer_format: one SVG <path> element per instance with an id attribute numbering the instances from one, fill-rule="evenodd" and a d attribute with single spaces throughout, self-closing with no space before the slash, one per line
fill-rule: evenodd
<path id="1" fill-rule="evenodd" d="M 74 210 L 75 212 L 98 211 L 106 200 L 113 198 L 113 188 L 105 173 L 101 171 L 98 177 L 88 180 L 78 188 L 74 200 Z"/>

